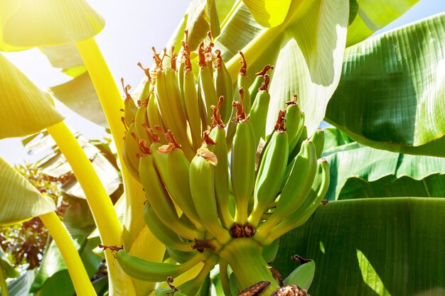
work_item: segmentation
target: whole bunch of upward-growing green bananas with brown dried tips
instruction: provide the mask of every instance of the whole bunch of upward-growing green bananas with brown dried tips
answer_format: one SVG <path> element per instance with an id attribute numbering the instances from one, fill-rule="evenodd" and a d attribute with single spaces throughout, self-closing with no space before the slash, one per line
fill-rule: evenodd
<path id="1" fill-rule="evenodd" d="M 156 282 L 202 265 L 196 278 L 174 288 L 185 295 L 195 295 L 218 263 L 230 265 L 241 290 L 271 278 L 268 270 L 257 277 L 251 270 L 246 278 L 238 266 L 252 262 L 233 261 L 267 265 L 263 248 L 309 219 L 329 182 L 328 163 L 320 158 L 323 131 L 307 138 L 296 96 L 277 114 L 274 131 L 265 133 L 271 65 L 248 85 L 240 53 L 242 66 L 232 84 L 210 35 L 197 54 L 194 74 L 187 38 L 179 55 L 174 48 L 162 55 L 154 50 L 154 70 L 139 64 L 147 82 L 137 106 L 122 81 L 122 159 L 144 186 L 146 225 L 176 263 L 147 262 L 121 249 L 117 261 L 133 278 Z M 171 292 L 169 285 L 160 293 Z"/>

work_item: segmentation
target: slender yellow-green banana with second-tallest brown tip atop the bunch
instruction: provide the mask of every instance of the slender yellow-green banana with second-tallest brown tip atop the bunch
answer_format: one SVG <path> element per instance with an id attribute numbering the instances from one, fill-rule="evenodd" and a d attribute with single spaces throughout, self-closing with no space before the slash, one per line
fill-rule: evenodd
<path id="1" fill-rule="evenodd" d="M 201 144 L 201 120 L 198 103 L 198 93 L 196 92 L 195 77 L 192 72 L 190 60 L 190 49 L 188 44 L 183 42 L 183 97 L 186 105 L 188 124 L 190 125 L 191 138 L 194 148 L 199 148 Z"/>

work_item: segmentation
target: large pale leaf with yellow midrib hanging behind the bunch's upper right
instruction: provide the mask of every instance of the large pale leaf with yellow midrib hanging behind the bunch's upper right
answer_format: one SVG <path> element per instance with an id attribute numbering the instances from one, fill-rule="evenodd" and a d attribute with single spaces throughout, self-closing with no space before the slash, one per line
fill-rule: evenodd
<path id="1" fill-rule="evenodd" d="M 292 1 L 286 20 L 274 28 L 259 26 L 244 5 L 232 13 L 215 48 L 222 50 L 223 60 L 230 59 L 227 70 L 232 77 L 239 69 L 238 50 L 246 56 L 249 73 L 266 64 L 275 66 L 268 131 L 293 94 L 299 96 L 309 134 L 319 126 L 340 79 L 347 22 L 348 1 L 342 0 Z"/>

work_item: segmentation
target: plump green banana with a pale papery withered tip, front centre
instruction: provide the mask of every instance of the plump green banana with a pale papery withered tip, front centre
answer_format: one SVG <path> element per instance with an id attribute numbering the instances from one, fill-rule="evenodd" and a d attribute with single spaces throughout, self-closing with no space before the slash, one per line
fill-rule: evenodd
<path id="1" fill-rule="evenodd" d="M 190 163 L 190 187 L 196 212 L 208 231 L 220 243 L 227 243 L 231 237 L 227 229 L 220 226 L 215 199 L 214 165 L 218 163 L 214 153 L 207 148 L 198 149 Z"/>

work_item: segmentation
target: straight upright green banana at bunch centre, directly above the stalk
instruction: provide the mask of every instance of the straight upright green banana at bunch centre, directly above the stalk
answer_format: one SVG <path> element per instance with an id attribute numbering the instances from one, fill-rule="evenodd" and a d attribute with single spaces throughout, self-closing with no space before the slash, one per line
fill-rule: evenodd
<path id="1" fill-rule="evenodd" d="M 247 222 L 248 205 L 254 188 L 255 158 L 257 147 L 252 123 L 244 109 L 243 89 L 240 89 L 241 104 L 233 102 L 237 108 L 237 129 L 233 138 L 230 162 L 232 190 L 236 201 L 235 221 L 244 225 Z"/>

